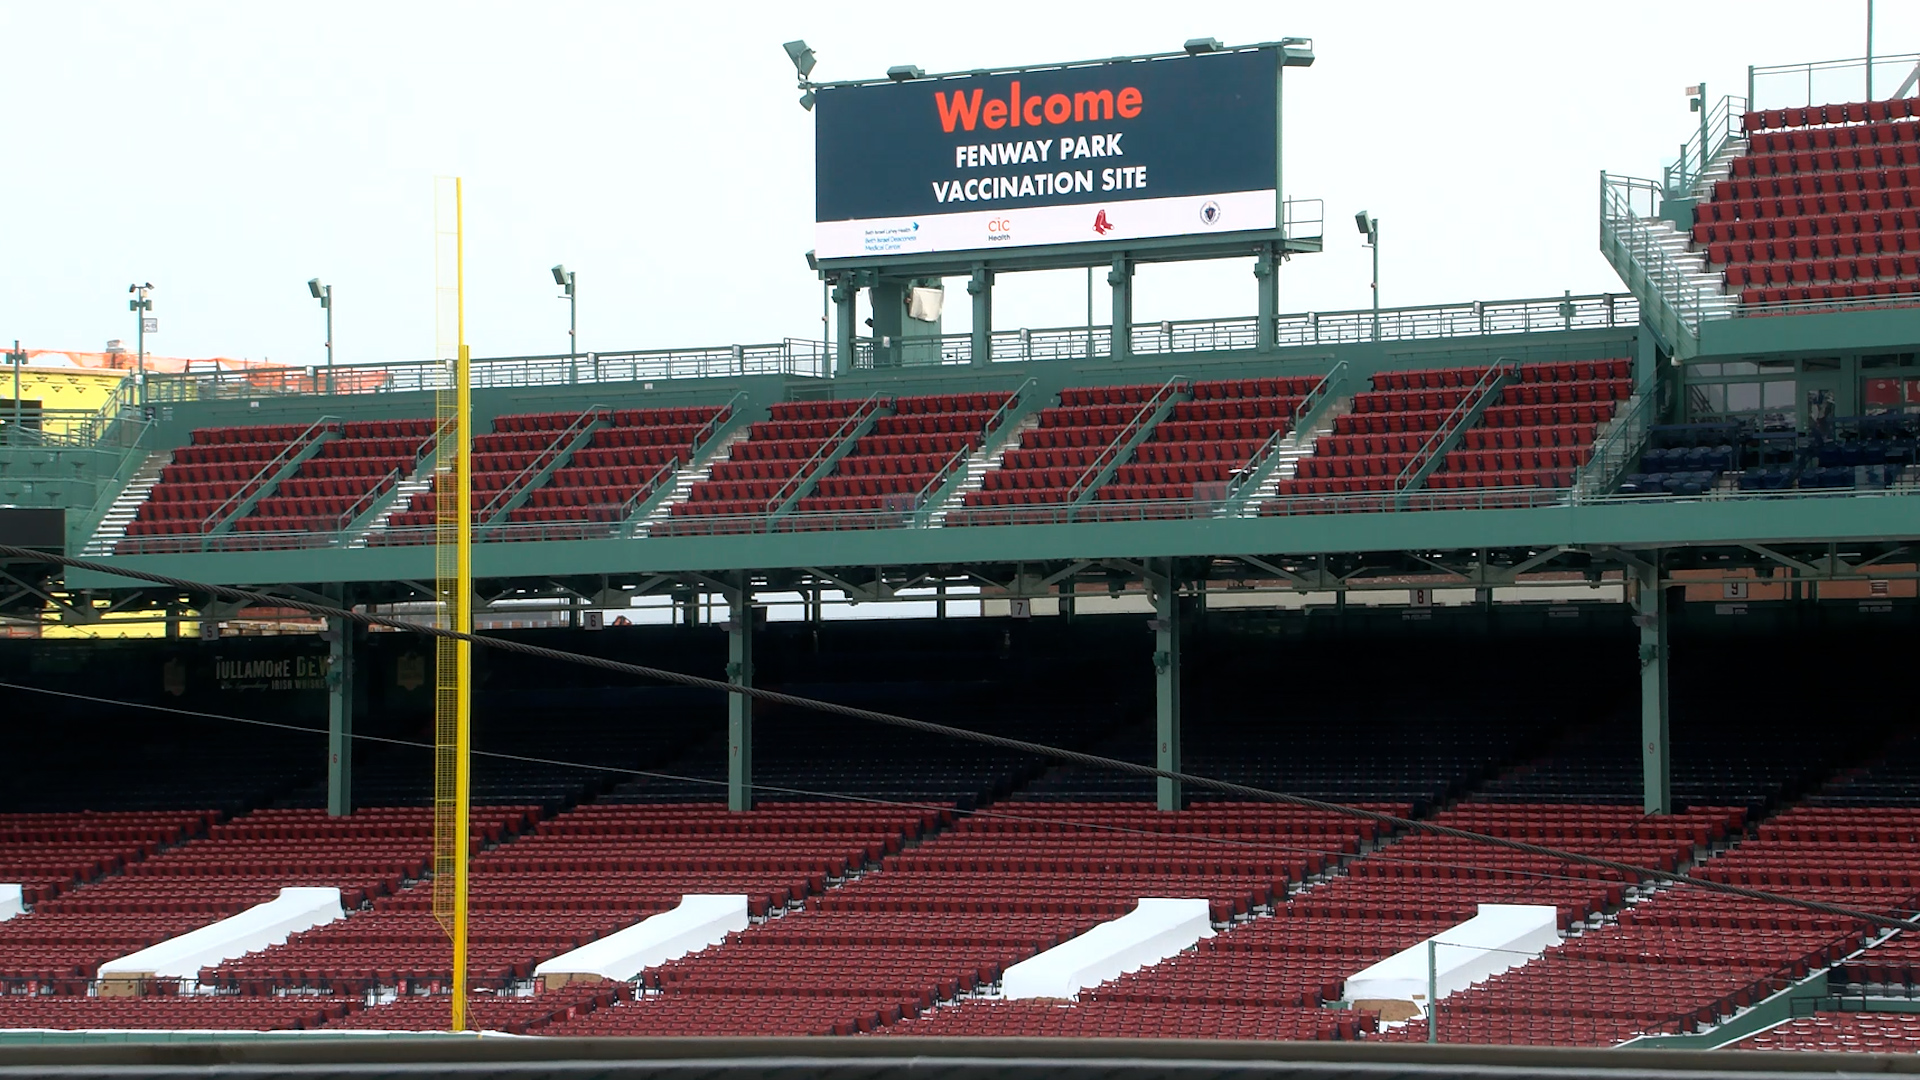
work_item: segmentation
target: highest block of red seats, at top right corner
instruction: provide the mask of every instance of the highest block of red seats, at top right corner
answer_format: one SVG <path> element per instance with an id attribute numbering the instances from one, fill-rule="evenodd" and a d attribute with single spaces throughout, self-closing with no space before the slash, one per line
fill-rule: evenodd
<path id="1" fill-rule="evenodd" d="M 1743 304 L 1920 292 L 1916 100 L 1749 111 L 1747 154 L 1693 209 Z"/>

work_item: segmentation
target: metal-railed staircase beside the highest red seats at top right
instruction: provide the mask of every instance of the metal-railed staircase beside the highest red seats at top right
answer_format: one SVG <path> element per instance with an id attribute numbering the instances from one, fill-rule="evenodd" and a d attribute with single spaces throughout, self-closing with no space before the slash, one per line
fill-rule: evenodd
<path id="1" fill-rule="evenodd" d="M 1699 348 L 1699 327 L 1732 317 L 1734 304 L 1718 284 L 1682 265 L 1661 244 L 1672 225 L 1661 219 L 1667 192 L 1653 181 L 1599 175 L 1599 250 L 1647 306 L 1647 321 L 1680 356 Z"/>

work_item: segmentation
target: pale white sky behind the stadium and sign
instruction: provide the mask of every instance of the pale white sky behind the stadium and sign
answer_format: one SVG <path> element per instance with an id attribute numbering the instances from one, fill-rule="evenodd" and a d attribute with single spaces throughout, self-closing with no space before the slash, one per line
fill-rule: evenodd
<path id="1" fill-rule="evenodd" d="M 818 338 L 795 37 L 818 79 L 1311 37 L 1317 63 L 1286 75 L 1286 186 L 1327 200 L 1329 250 L 1284 269 L 1284 311 L 1367 304 L 1363 208 L 1386 306 L 1619 290 L 1596 252 L 1599 169 L 1657 177 L 1697 79 L 1718 98 L 1749 63 L 1860 56 L 1864 10 L 0 0 L 0 340 L 132 338 L 127 282 L 152 281 L 152 352 L 317 363 L 319 275 L 340 361 L 430 356 L 432 177 L 449 173 L 476 356 L 564 352 L 557 261 L 580 275 L 582 350 Z M 1914 50 L 1920 4 L 1882 0 L 1876 52 Z M 1252 313 L 1250 269 L 1150 267 L 1137 319 Z M 1000 327 L 1083 317 L 1081 271 L 996 288 Z"/>

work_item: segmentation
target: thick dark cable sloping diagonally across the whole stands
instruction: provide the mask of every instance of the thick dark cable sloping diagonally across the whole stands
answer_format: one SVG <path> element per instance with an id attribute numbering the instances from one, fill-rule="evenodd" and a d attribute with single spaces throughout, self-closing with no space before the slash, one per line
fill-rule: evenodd
<path id="1" fill-rule="evenodd" d="M 192 580 L 192 578 L 177 578 L 177 577 L 169 577 L 169 575 L 156 575 L 152 571 L 136 571 L 132 567 L 117 567 L 117 565 L 100 563 L 100 561 L 94 561 L 94 559 L 75 559 L 71 555 L 54 555 L 54 553 L 48 553 L 48 552 L 35 552 L 31 548 L 15 548 L 12 544 L 0 544 L 0 559 L 54 563 L 54 565 L 61 565 L 61 567 L 77 569 L 77 571 L 92 571 L 92 573 L 108 575 L 108 577 L 121 577 L 121 578 L 129 578 L 129 580 L 142 580 L 142 582 L 150 582 L 150 584 L 163 584 L 167 588 L 175 588 L 175 590 L 180 590 L 180 592 L 200 592 L 200 594 L 207 594 L 207 596 L 221 598 L 221 600 L 242 600 L 242 601 L 248 601 L 248 603 L 257 603 L 261 607 L 292 607 L 292 609 L 298 609 L 298 611 L 305 611 L 309 615 L 321 615 L 321 617 L 326 617 L 326 619 L 340 619 L 340 621 L 348 621 L 348 623 L 359 623 L 363 626 L 388 626 L 388 628 L 394 628 L 394 630 L 407 630 L 407 632 L 424 634 L 424 636 L 430 636 L 430 638 L 463 640 L 463 642 L 472 642 L 476 646 L 484 646 L 484 648 L 490 648 L 490 650 L 497 650 L 497 651 L 509 651 L 509 653 L 520 653 L 520 655 L 530 655 L 530 657 L 540 657 L 540 659 L 551 659 L 551 661 L 557 661 L 557 663 L 576 663 L 576 665 L 593 667 L 593 669 L 599 669 L 599 671 L 611 671 L 611 673 L 616 673 L 616 675 L 630 675 L 630 676 L 639 676 L 639 678 L 651 678 L 651 680 L 657 680 L 657 682 L 672 682 L 676 686 L 693 686 L 697 690 L 720 690 L 724 694 L 739 694 L 739 696 L 745 696 L 745 698 L 751 698 L 751 700 L 756 700 L 756 701 L 772 701 L 776 705 L 789 705 L 789 707 L 795 707 L 795 709 L 812 709 L 812 711 L 820 711 L 820 713 L 829 713 L 829 715 L 839 715 L 839 717 L 849 717 L 849 719 L 858 719 L 858 721 L 872 721 L 872 723 L 877 723 L 877 724 L 887 724 L 887 726 L 916 730 L 916 732 L 924 732 L 924 734 L 937 734 L 937 736 L 964 740 L 964 742 L 977 742 L 977 744 L 995 746 L 995 748 L 1000 748 L 1000 749 L 1012 749 L 1012 751 L 1018 751 L 1018 753 L 1029 753 L 1029 755 L 1035 755 L 1035 757 L 1050 757 L 1054 761 L 1066 761 L 1069 765 L 1083 765 L 1083 767 L 1091 767 L 1091 769 L 1108 769 L 1108 771 L 1114 771 L 1114 773 L 1127 773 L 1127 774 L 1133 774 L 1133 776 L 1152 776 L 1152 778 L 1158 778 L 1158 780 L 1177 780 L 1181 784 L 1190 784 L 1190 786 L 1196 786 L 1196 788 L 1210 788 L 1210 790 L 1215 790 L 1215 792 L 1227 792 L 1231 796 L 1240 796 L 1240 798 L 1250 799 L 1250 801 L 1269 801 L 1269 803 L 1294 805 L 1294 807 L 1317 809 L 1317 811 L 1327 811 L 1327 813 L 1340 813 L 1340 815 L 1357 817 L 1357 819 L 1363 819 L 1363 821 L 1373 821 L 1377 824 L 1384 824 L 1384 826 L 1392 826 L 1392 828 L 1402 828 L 1402 830 L 1409 830 L 1409 832 L 1427 832 L 1427 834 L 1432 834 L 1432 836 L 1452 836 L 1455 840 L 1469 840 L 1469 842 L 1484 844 L 1484 846 L 1490 846 L 1490 847 L 1505 847 L 1509 851 L 1524 851 L 1528 855 L 1542 855 L 1542 857 L 1548 857 L 1548 859 L 1563 859 L 1563 861 L 1569 861 L 1569 863 L 1580 863 L 1580 865 L 1588 865 L 1588 867 L 1603 867 L 1603 869 L 1617 871 L 1617 872 L 1622 872 L 1622 874 L 1632 874 L 1632 876 L 1642 878 L 1642 880 L 1670 880 L 1670 882 L 1676 882 L 1676 884 L 1690 884 L 1690 886 L 1695 886 L 1695 888 L 1701 888 L 1701 890 L 1707 890 L 1707 892 L 1718 892 L 1718 894 L 1726 894 L 1726 896 L 1740 896 L 1740 897 L 1755 899 L 1755 901 L 1763 901 L 1763 903 L 1782 903 L 1782 905 L 1799 907 L 1803 911 L 1816 911 L 1820 915 L 1837 915 L 1841 919 L 1857 919 L 1857 920 L 1862 920 L 1862 922 L 1868 922 L 1868 924 L 1874 924 L 1874 926 L 1889 926 L 1889 928 L 1899 928 L 1899 930 L 1920 930 L 1920 922 L 1916 922 L 1916 920 L 1891 919 L 1887 915 L 1880 915 L 1880 913 L 1872 913 L 1872 911 L 1860 911 L 1860 909 L 1853 909 L 1853 907 L 1843 907 L 1843 905 L 1837 905 L 1837 903 L 1824 903 L 1824 901 L 1816 901 L 1816 899 L 1799 899 L 1799 897 L 1780 896 L 1780 894 L 1763 892 L 1763 890 L 1755 890 L 1755 888 L 1747 888 L 1747 886 L 1736 886 L 1736 884 L 1730 884 L 1730 882 L 1711 882 L 1711 880 L 1695 878 L 1695 876 L 1690 876 L 1690 874 L 1682 874 L 1678 871 L 1661 871 L 1657 867 L 1638 867 L 1634 863 L 1620 863 L 1620 861 L 1605 859 L 1605 857 L 1599 857 L 1599 855 L 1582 855 L 1578 851 L 1563 851 L 1563 849 L 1557 849 L 1557 847 L 1548 847 L 1548 846 L 1542 846 L 1542 844 L 1528 844 L 1524 840 L 1513 840 L 1513 838 L 1507 838 L 1507 836 L 1490 836 L 1490 834 L 1484 834 L 1484 832 L 1471 832 L 1471 830 L 1465 830 L 1465 828 L 1453 828 L 1453 826 L 1436 824 L 1436 822 L 1430 822 L 1430 821 L 1415 821 L 1415 819 L 1398 817 L 1398 815 L 1390 815 L 1390 813 L 1369 811 L 1369 809 L 1363 809 L 1363 807 L 1352 807 L 1352 805 L 1344 805 L 1344 803 L 1331 803 L 1331 801 L 1325 801 L 1325 799 L 1311 799 L 1311 798 L 1306 798 L 1306 796 L 1290 796 L 1290 794 L 1284 794 L 1284 792 L 1271 792 L 1267 788 L 1254 788 L 1254 786 L 1248 786 L 1248 784 L 1235 784 L 1231 780 L 1217 780 L 1213 776 L 1196 776 L 1192 773 L 1181 773 L 1181 771 L 1175 771 L 1175 769 L 1158 769 L 1154 765 L 1137 765 L 1133 761 L 1121 761 L 1117 757 L 1100 757 L 1096 753 L 1081 753 L 1077 749 L 1066 749 L 1066 748 L 1058 748 L 1058 746 L 1046 746 L 1046 744 L 1041 744 L 1041 742 L 1027 742 L 1027 740 L 1020 740 L 1020 738 L 1008 738 L 1008 736 L 996 736 L 996 734 L 987 734 L 987 732 L 975 732 L 975 730 L 958 728 L 958 726 L 952 726 L 952 724 L 937 724 L 933 721 L 916 721 L 912 717 L 900 717 L 900 715 L 895 715 L 895 713 L 881 713 L 881 711 L 876 711 L 876 709 L 860 709 L 860 707 L 854 707 L 854 705 L 841 705 L 841 703 L 835 703 L 835 701 L 820 701 L 816 698 L 801 698 L 797 694 L 783 694 L 780 690 L 764 690 L 764 688 L 758 688 L 758 686 L 739 686 L 739 684 L 733 684 L 733 682 L 724 682 L 724 680 L 718 680 L 718 678 L 703 678 L 699 675 L 687 675 L 687 673 L 682 673 L 682 671 L 668 671 L 668 669 L 659 669 L 659 667 L 645 667 L 645 665 L 637 665 L 637 663 L 605 659 L 605 657 L 595 657 L 595 655 L 586 655 L 586 653 L 570 653 L 570 651 L 563 651 L 563 650 L 551 650 L 551 648 L 545 648 L 545 646 L 532 646 L 532 644 L 526 644 L 526 642 L 515 642 L 515 640 L 507 640 L 507 638 L 484 638 L 480 634 L 463 634 L 459 630 L 451 630 L 451 628 L 445 628 L 445 626 L 432 626 L 432 625 L 424 625 L 424 623 L 413 623 L 413 621 L 407 621 L 407 619 L 394 619 L 394 617 L 388 617 L 388 615 L 372 615 L 372 613 L 365 613 L 365 611 L 348 611 L 348 609 L 332 607 L 332 605 L 326 605 L 326 603 L 311 603 L 311 601 L 305 601 L 305 600 L 294 600 L 294 598 L 286 598 L 286 596 L 273 596 L 273 594 L 267 594 L 267 592 L 255 592 L 255 590 L 248 590 L 248 588 L 234 588 L 234 586 L 227 586 L 227 584 L 209 584 L 209 582 L 198 582 L 198 580 Z"/>

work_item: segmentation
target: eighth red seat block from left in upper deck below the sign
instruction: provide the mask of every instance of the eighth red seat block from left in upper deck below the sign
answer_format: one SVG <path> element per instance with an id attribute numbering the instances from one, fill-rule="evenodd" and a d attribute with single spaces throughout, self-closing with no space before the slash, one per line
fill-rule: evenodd
<path id="1" fill-rule="evenodd" d="M 1094 498 L 1217 502 L 1271 438 L 1292 429 L 1317 382 L 1309 375 L 1194 382 L 1192 400 L 1173 405 Z"/>

